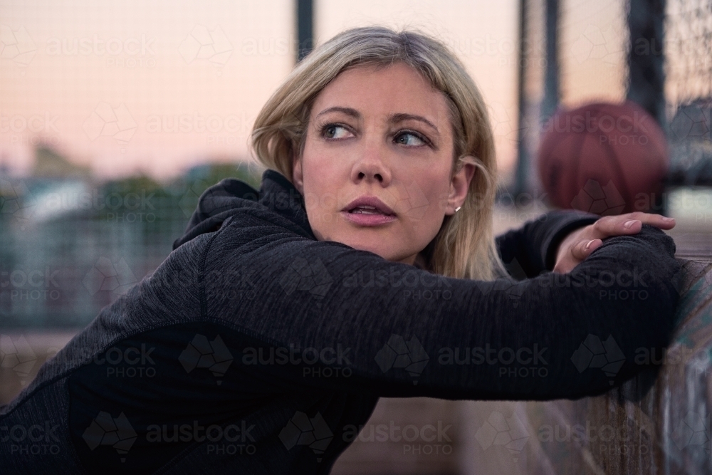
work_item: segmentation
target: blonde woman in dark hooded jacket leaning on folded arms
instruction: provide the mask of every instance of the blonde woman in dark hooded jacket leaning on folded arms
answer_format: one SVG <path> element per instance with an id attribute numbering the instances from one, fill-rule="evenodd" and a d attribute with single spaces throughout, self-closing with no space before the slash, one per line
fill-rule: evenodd
<path id="1" fill-rule="evenodd" d="M 431 38 L 336 36 L 253 146 L 259 192 L 209 189 L 162 266 L 3 409 L 2 466 L 325 474 L 378 397 L 595 395 L 667 343 L 674 223 L 550 212 L 494 240 L 485 106 Z M 502 260 L 527 278 L 496 279 Z M 609 298 L 633 288 L 649 298 Z M 607 373 L 572 362 L 588 335 L 619 348 Z"/>

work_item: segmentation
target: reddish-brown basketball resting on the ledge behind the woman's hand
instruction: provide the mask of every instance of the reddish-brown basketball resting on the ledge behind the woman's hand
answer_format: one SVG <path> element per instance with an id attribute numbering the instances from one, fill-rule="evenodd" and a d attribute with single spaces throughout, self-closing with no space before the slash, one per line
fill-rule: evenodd
<path id="1" fill-rule="evenodd" d="M 650 211 L 668 167 L 664 132 L 631 101 L 558 110 L 538 150 L 550 203 L 602 216 Z"/>

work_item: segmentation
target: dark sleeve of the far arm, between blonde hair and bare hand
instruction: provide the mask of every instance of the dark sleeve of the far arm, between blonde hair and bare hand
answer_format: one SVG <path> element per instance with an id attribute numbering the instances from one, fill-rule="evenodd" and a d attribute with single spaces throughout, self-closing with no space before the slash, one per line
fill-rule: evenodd
<path id="1" fill-rule="evenodd" d="M 599 217 L 571 209 L 550 211 L 519 229 L 497 236 L 495 241 L 514 278 L 535 277 L 554 268 L 558 246 L 570 232 L 594 223 Z M 522 271 L 524 275 L 520 275 Z"/>

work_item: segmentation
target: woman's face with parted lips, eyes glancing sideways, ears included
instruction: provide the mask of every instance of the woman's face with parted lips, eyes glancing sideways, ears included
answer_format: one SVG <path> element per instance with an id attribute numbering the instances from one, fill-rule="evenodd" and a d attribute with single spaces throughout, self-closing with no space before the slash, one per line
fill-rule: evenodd
<path id="1" fill-rule="evenodd" d="M 320 241 L 412 264 L 464 202 L 446 99 L 403 63 L 347 70 L 313 104 L 293 182 Z"/>

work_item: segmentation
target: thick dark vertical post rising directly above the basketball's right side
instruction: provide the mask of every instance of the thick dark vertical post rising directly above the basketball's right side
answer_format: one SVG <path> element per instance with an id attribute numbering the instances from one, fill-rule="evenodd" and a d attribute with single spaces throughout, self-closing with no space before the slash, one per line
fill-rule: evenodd
<path id="1" fill-rule="evenodd" d="M 638 103 L 665 127 L 664 20 L 665 0 L 629 0 L 626 98 Z"/>

